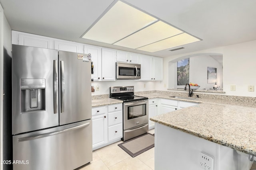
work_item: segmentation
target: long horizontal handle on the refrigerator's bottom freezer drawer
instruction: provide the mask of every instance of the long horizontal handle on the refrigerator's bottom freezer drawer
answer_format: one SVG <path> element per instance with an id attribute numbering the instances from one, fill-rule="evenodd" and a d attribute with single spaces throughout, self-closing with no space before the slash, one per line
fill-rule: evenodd
<path id="1" fill-rule="evenodd" d="M 34 139 L 39 139 L 39 138 L 48 137 L 48 136 L 52 136 L 52 135 L 58 135 L 60 133 L 65 133 L 65 132 L 68 132 L 68 131 L 74 131 L 76 129 L 80 129 L 82 127 L 86 127 L 86 126 L 89 126 L 89 125 L 90 125 L 90 122 L 85 123 L 83 125 L 70 127 L 68 129 L 63 129 L 62 131 L 54 131 L 54 132 L 50 132 L 50 133 L 43 133 L 43 134 L 40 134 L 40 135 L 34 135 L 34 136 L 31 136 L 31 137 L 19 138 L 18 142 L 31 141 L 31 140 L 34 140 Z"/>

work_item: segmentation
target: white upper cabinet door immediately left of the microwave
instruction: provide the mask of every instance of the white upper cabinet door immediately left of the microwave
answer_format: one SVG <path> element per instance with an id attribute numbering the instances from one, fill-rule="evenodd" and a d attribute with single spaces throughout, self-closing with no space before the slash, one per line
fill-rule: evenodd
<path id="1" fill-rule="evenodd" d="M 102 48 L 102 81 L 116 80 L 116 50 Z"/>

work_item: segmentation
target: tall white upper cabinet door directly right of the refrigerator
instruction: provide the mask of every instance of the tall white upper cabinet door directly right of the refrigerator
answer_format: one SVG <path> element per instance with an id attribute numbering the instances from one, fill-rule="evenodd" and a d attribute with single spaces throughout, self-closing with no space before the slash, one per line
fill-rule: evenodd
<path id="1" fill-rule="evenodd" d="M 92 79 L 94 81 L 99 81 L 101 79 L 101 48 L 84 45 L 84 53 L 91 54 L 92 68 Z"/>

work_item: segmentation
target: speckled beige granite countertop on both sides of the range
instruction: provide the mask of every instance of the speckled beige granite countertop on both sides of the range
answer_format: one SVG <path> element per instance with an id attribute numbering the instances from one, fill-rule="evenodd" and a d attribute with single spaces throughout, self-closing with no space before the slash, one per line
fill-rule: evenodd
<path id="1" fill-rule="evenodd" d="M 244 96 L 199 94 L 200 98 L 187 97 L 187 93 L 170 91 L 135 92 L 149 99 L 165 98 L 198 105 L 157 115 L 150 120 L 185 133 L 256 156 L 256 98 Z M 196 96 L 196 92 L 194 92 Z M 92 100 L 92 107 L 122 103 L 120 100 L 101 98 Z"/>

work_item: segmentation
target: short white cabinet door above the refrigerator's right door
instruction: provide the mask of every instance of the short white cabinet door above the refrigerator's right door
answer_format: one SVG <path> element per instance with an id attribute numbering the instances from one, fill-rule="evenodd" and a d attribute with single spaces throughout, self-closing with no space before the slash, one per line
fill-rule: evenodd
<path id="1" fill-rule="evenodd" d="M 64 40 L 55 40 L 54 49 L 74 53 L 84 53 L 84 44 Z"/>

